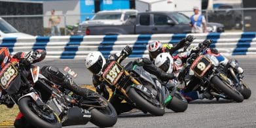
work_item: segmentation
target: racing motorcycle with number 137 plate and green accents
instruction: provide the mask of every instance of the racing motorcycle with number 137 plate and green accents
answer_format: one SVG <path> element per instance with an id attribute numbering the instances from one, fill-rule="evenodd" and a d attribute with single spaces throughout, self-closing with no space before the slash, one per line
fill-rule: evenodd
<path id="1" fill-rule="evenodd" d="M 120 58 L 122 55 L 103 69 L 102 78 L 120 91 L 126 102 L 155 116 L 164 115 L 167 105 L 175 112 L 184 112 L 187 109 L 187 101 L 178 95 L 177 91 L 169 93 L 168 89 L 143 67 L 133 65 L 132 62 L 120 65 Z"/>

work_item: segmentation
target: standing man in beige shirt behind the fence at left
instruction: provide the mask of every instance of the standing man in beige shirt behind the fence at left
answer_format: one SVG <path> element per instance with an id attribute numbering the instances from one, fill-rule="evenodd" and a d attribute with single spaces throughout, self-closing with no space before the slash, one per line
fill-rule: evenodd
<path id="1" fill-rule="evenodd" d="M 60 35 L 60 26 L 59 26 L 60 16 L 55 15 L 55 10 L 54 9 L 51 10 L 50 12 L 52 14 L 49 18 L 49 24 L 48 24 L 49 27 L 52 28 L 50 35 L 54 36 L 56 31 L 57 31 L 56 35 Z"/>

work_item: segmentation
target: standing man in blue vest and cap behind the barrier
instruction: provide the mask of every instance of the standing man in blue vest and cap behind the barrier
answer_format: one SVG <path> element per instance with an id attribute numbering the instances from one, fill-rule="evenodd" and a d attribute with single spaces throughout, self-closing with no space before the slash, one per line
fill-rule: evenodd
<path id="1" fill-rule="evenodd" d="M 207 33 L 206 18 L 202 14 L 199 14 L 199 8 L 194 7 L 194 14 L 191 16 L 190 26 L 192 27 L 192 33 Z"/>

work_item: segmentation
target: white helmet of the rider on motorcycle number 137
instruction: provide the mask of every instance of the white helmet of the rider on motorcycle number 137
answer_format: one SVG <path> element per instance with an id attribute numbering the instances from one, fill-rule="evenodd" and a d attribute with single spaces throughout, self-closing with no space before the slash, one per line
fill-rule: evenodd
<path id="1" fill-rule="evenodd" d="M 85 59 L 86 68 L 93 74 L 100 74 L 106 60 L 101 52 L 91 52 Z"/>

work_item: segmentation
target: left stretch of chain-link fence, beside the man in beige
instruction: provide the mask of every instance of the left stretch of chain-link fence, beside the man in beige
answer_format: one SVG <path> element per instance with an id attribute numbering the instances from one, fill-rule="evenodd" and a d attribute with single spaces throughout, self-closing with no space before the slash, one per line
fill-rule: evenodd
<path id="1" fill-rule="evenodd" d="M 75 31 L 77 24 L 84 22 L 86 18 L 94 16 L 94 14 L 69 14 L 69 15 L 58 15 L 60 17 L 60 28 L 61 35 L 69 35 L 72 31 Z M 50 36 L 52 35 L 52 28 L 49 24 L 50 15 L 20 15 L 20 16 L 0 16 L 3 20 L 8 22 L 14 28 L 22 33 L 29 35 L 39 36 Z M 0 19 L 0 31 L 1 22 Z M 4 28 L 3 28 L 4 29 Z M 6 31 L 9 33 L 9 31 Z M 55 31 L 57 35 L 58 32 Z"/>

